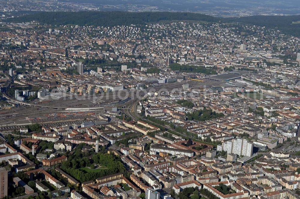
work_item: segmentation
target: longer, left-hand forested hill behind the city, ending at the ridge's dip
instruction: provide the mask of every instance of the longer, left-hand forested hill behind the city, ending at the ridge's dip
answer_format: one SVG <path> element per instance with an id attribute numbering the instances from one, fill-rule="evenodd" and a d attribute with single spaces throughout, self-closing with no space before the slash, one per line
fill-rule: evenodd
<path id="1" fill-rule="evenodd" d="M 219 18 L 197 13 L 174 13 L 174 12 L 43 12 L 26 15 L 7 20 L 8 22 L 30 22 L 39 21 L 40 23 L 52 25 L 143 25 L 148 22 L 160 22 L 163 20 L 195 20 L 206 22 L 217 22 Z"/>

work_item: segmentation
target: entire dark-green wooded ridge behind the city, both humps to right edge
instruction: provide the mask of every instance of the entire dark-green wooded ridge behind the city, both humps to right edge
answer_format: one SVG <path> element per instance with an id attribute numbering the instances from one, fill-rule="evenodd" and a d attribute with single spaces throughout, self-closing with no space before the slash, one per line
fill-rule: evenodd
<path id="1" fill-rule="evenodd" d="M 7 22 L 30 22 L 38 21 L 51 25 L 144 25 L 148 22 L 155 23 L 171 20 L 190 20 L 205 22 L 242 22 L 251 25 L 277 28 L 285 34 L 300 37 L 300 15 L 293 16 L 248 16 L 234 18 L 219 18 L 199 13 L 183 12 L 43 12 L 22 17 L 8 19 Z"/>

